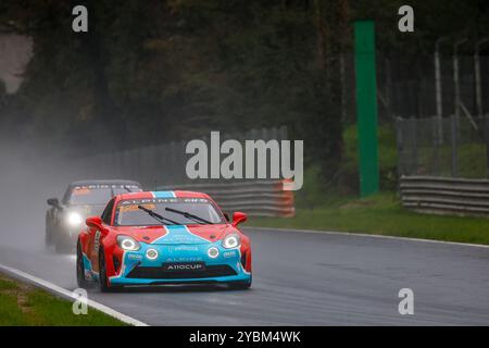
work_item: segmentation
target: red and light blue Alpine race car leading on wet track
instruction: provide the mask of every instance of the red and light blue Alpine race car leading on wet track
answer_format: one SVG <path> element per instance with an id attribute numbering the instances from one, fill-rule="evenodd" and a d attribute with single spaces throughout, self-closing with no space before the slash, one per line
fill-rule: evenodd
<path id="1" fill-rule="evenodd" d="M 102 216 L 86 220 L 77 243 L 80 287 L 222 283 L 251 286 L 250 239 L 205 194 L 135 192 L 115 196 Z"/>

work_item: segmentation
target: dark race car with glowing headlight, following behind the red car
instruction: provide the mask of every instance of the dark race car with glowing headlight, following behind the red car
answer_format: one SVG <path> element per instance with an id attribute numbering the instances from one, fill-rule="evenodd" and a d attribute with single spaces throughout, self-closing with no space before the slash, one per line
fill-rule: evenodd
<path id="1" fill-rule="evenodd" d="M 46 245 L 54 245 L 58 252 L 75 249 L 85 219 L 100 215 L 106 202 L 115 195 L 142 191 L 131 181 L 83 181 L 68 185 L 61 202 L 48 199 L 51 208 L 46 213 Z"/>

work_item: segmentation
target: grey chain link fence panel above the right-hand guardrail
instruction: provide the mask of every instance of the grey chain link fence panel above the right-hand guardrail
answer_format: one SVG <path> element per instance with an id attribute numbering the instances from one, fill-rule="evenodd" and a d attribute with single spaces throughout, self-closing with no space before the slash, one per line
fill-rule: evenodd
<path id="1" fill-rule="evenodd" d="M 399 175 L 488 177 L 489 115 L 397 119 Z"/>

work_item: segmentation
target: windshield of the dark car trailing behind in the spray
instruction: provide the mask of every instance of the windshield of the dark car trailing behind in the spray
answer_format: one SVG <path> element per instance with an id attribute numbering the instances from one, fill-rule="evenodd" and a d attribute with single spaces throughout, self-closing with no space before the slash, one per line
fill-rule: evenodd
<path id="1" fill-rule="evenodd" d="M 115 195 L 140 191 L 137 186 L 128 185 L 88 185 L 75 186 L 70 195 L 68 202 L 72 206 L 106 204 Z"/>

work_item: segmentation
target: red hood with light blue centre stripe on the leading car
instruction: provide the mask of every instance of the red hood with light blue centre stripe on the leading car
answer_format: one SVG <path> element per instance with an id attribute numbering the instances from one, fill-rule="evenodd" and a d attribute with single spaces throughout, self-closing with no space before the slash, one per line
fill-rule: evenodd
<path id="1" fill-rule="evenodd" d="M 237 229 L 230 224 L 168 225 L 168 226 L 118 226 L 113 232 L 154 245 L 196 245 L 222 239 Z"/>

